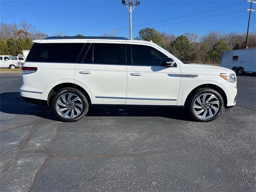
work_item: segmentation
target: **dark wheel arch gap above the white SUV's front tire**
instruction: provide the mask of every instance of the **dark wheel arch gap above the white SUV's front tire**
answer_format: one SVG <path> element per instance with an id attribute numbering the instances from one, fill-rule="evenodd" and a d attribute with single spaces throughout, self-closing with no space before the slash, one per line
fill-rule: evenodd
<path id="1" fill-rule="evenodd" d="M 224 92 L 224 90 L 219 87 L 218 85 L 214 85 L 214 84 L 202 84 L 200 86 L 197 86 L 196 88 L 194 88 L 187 96 L 186 101 L 185 101 L 185 106 L 188 104 L 188 101 L 190 100 L 190 98 L 193 96 L 193 94 L 196 92 L 197 89 L 199 88 L 211 88 L 213 90 L 216 90 L 223 98 L 223 102 L 224 102 L 224 107 L 227 106 L 227 96 L 226 93 Z"/>

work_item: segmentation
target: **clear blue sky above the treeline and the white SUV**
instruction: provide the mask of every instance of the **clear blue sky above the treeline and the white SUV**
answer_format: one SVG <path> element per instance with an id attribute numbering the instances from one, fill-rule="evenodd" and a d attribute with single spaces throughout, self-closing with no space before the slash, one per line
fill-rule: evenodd
<path id="1" fill-rule="evenodd" d="M 100 36 L 111 29 L 116 29 L 118 36 L 129 36 L 129 14 L 121 0 L 1 0 L 0 4 L 2 22 L 25 19 L 49 36 L 59 32 Z M 246 32 L 249 12 L 245 9 L 249 7 L 245 0 L 140 0 L 132 15 L 133 38 L 144 27 L 175 35 L 204 35 L 210 30 Z M 253 12 L 250 32 L 256 31 L 255 25 Z"/>

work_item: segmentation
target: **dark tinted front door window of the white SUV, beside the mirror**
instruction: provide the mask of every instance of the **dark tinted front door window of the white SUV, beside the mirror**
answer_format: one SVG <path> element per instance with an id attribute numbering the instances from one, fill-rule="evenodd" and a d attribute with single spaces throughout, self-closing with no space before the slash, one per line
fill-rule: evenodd
<path id="1" fill-rule="evenodd" d="M 167 56 L 153 47 L 132 45 L 132 64 L 146 66 L 165 66 Z"/>

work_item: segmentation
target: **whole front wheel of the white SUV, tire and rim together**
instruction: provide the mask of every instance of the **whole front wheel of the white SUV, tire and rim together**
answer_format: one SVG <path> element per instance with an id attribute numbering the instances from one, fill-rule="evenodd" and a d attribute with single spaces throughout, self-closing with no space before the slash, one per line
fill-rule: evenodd
<path id="1" fill-rule="evenodd" d="M 188 110 L 195 120 L 208 122 L 220 115 L 223 103 L 222 96 L 216 90 L 200 88 L 190 98 Z"/>

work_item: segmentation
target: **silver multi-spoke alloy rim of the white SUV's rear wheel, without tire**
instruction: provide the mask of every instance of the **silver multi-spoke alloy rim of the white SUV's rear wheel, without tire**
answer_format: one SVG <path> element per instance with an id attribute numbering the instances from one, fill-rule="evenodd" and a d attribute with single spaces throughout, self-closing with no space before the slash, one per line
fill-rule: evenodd
<path id="1" fill-rule="evenodd" d="M 83 104 L 76 94 L 64 93 L 58 97 L 55 108 L 63 118 L 73 119 L 81 114 Z"/>

